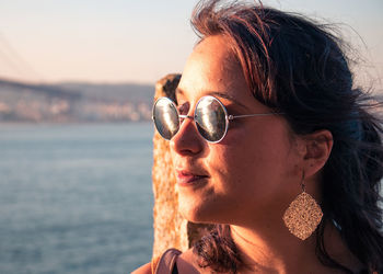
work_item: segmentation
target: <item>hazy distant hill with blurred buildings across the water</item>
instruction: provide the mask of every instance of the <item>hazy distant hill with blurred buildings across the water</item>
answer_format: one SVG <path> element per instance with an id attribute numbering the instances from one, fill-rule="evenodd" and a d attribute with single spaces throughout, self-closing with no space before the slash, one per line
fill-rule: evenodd
<path id="1" fill-rule="evenodd" d="M 127 122 L 151 117 L 154 85 L 0 79 L 0 122 Z"/>

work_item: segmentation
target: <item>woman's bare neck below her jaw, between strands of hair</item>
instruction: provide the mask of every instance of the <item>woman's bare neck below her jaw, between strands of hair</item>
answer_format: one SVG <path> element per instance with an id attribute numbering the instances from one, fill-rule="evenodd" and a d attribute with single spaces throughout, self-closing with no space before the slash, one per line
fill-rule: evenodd
<path id="1" fill-rule="evenodd" d="M 335 271 L 324 266 L 317 259 L 315 232 L 302 241 L 292 236 L 283 225 L 280 227 L 265 225 L 263 228 L 231 225 L 230 228 L 231 237 L 242 260 L 248 266 L 248 273 L 332 273 Z M 332 222 L 325 226 L 324 241 L 327 253 L 338 263 L 350 270 L 363 269 L 343 242 Z"/>

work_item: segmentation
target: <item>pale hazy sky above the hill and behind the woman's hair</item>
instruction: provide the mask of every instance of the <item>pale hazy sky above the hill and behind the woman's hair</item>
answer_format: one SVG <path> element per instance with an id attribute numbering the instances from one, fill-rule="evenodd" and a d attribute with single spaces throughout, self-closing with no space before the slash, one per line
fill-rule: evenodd
<path id="1" fill-rule="evenodd" d="M 182 72 L 196 42 L 189 24 L 196 2 L 0 0 L 0 77 L 154 83 Z M 360 70 L 374 80 L 382 77 L 382 0 L 263 2 L 345 23 L 345 38 L 365 58 Z"/>

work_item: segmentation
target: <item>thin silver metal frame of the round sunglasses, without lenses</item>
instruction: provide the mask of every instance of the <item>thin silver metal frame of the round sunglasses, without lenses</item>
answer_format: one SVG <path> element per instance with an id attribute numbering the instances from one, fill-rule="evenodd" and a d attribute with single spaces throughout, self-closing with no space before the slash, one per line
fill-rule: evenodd
<path id="1" fill-rule="evenodd" d="M 224 112 L 224 118 L 225 118 L 225 124 L 224 124 L 224 126 L 225 126 L 225 128 L 224 128 L 224 133 L 223 133 L 222 137 L 221 137 L 219 140 L 208 140 L 207 138 L 205 138 L 204 135 L 199 132 L 199 127 L 200 127 L 200 126 L 198 126 L 198 122 L 196 122 L 196 110 L 197 110 L 199 103 L 200 103 L 202 100 L 207 100 L 207 99 L 211 99 L 211 100 L 217 101 L 217 102 L 220 104 L 220 106 L 222 107 L 223 112 Z M 254 117 L 254 116 L 269 116 L 269 115 L 281 115 L 281 114 L 283 114 L 283 113 L 270 112 L 270 113 L 254 113 L 254 114 L 243 114 L 243 115 L 231 115 L 231 114 L 228 114 L 227 107 L 222 104 L 222 102 L 221 102 L 219 99 L 217 99 L 217 98 L 214 98 L 214 96 L 212 96 L 212 95 L 205 95 L 205 96 L 201 96 L 201 98 L 198 100 L 198 102 L 197 102 L 197 104 L 196 104 L 196 107 L 194 109 L 194 115 L 190 116 L 190 115 L 179 114 L 178 109 L 177 109 L 177 105 L 174 103 L 174 101 L 171 100 L 171 99 L 167 98 L 167 96 L 162 96 L 162 98 L 158 99 L 158 100 L 155 101 L 154 105 L 153 105 L 153 110 L 152 110 L 152 119 L 153 119 L 153 121 L 155 121 L 155 116 L 154 116 L 155 106 L 156 106 L 156 103 L 158 103 L 160 100 L 167 100 L 167 101 L 172 104 L 172 106 L 174 106 L 174 109 L 176 110 L 176 113 L 177 113 L 177 115 L 178 115 L 178 122 L 179 122 L 179 124 L 178 124 L 178 129 L 177 129 L 177 132 L 176 132 L 175 134 L 177 134 L 178 130 L 179 130 L 179 127 L 181 127 L 181 124 L 182 124 L 181 119 L 182 119 L 182 118 L 189 118 L 189 119 L 193 119 L 193 122 L 194 122 L 194 124 L 195 124 L 195 126 L 196 126 L 196 128 L 197 128 L 198 134 L 199 134 L 205 140 L 207 140 L 208 142 L 212 142 L 212 144 L 220 142 L 220 141 L 227 136 L 227 133 L 228 133 L 228 129 L 229 129 L 229 123 L 230 123 L 230 121 L 233 121 L 233 119 L 235 119 L 235 118 L 246 118 L 246 117 Z M 154 125 L 155 125 L 155 123 L 154 123 Z M 155 128 L 156 128 L 156 126 L 155 126 Z M 159 130 L 158 130 L 158 132 L 159 132 Z M 160 134 L 164 139 L 166 139 L 160 132 L 159 132 L 159 134 Z M 174 136 L 175 136 L 175 135 L 173 135 L 172 138 L 173 138 Z M 166 139 L 166 140 L 170 140 L 170 139 Z"/>

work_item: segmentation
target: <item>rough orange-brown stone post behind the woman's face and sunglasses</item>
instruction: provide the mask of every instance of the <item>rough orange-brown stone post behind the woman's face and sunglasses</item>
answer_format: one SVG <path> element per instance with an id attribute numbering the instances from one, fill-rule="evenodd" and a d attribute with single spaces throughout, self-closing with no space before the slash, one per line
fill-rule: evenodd
<path id="1" fill-rule="evenodd" d="M 179 79 L 181 75 L 167 75 L 159 80 L 155 84 L 154 101 L 161 96 L 174 100 Z M 200 239 L 209 226 L 189 222 L 179 215 L 169 141 L 154 132 L 153 146 L 153 256 L 158 256 L 170 248 L 187 250 Z"/>

